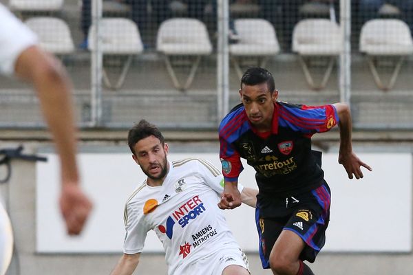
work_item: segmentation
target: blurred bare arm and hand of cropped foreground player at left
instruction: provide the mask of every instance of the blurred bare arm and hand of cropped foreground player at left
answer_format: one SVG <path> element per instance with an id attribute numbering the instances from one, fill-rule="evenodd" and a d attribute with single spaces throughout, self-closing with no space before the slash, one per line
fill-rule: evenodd
<path id="1" fill-rule="evenodd" d="M 61 212 L 67 232 L 79 234 L 92 209 L 92 203 L 79 186 L 76 166 L 76 137 L 70 90 L 72 85 L 56 58 L 28 47 L 17 59 L 15 73 L 34 85 L 41 110 L 54 137 L 61 160 Z"/>

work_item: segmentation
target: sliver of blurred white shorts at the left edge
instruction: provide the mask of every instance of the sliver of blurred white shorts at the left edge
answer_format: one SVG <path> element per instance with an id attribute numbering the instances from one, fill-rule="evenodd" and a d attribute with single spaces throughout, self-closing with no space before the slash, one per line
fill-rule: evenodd
<path id="1" fill-rule="evenodd" d="M 0 275 L 6 273 L 13 254 L 12 225 L 6 210 L 0 203 Z"/>

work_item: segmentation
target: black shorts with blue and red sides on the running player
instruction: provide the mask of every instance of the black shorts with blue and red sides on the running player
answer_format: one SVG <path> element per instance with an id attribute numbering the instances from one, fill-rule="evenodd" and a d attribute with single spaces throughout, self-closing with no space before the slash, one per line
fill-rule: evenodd
<path id="1" fill-rule="evenodd" d="M 260 236 L 262 267 L 270 268 L 269 256 L 282 230 L 295 232 L 306 243 L 299 259 L 313 263 L 326 241 L 330 220 L 330 188 L 319 188 L 291 197 L 258 196 L 255 221 Z"/>

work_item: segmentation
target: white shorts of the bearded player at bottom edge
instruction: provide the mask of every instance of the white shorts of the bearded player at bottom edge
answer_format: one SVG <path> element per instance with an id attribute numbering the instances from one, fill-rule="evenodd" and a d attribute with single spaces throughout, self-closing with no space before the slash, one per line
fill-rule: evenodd
<path id="1" fill-rule="evenodd" d="M 179 275 L 222 275 L 225 267 L 229 265 L 240 265 L 249 272 L 248 259 L 240 248 L 222 249 L 204 259 L 200 259 L 192 265 L 180 269 L 175 274 Z M 250 272 L 251 273 L 251 272 Z"/>

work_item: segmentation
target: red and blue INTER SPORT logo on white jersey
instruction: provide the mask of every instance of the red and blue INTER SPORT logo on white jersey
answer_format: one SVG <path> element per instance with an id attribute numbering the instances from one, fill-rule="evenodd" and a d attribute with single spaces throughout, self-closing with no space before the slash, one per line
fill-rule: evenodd
<path id="1" fill-rule="evenodd" d="M 175 225 L 176 221 L 181 225 L 181 228 L 184 228 L 191 222 L 191 220 L 196 219 L 206 210 L 204 203 L 198 195 L 196 195 L 174 210 L 171 216 L 167 219 L 166 227 L 164 225 L 159 225 L 158 230 L 161 233 L 167 234 L 169 239 L 172 239 L 173 225 Z"/>

